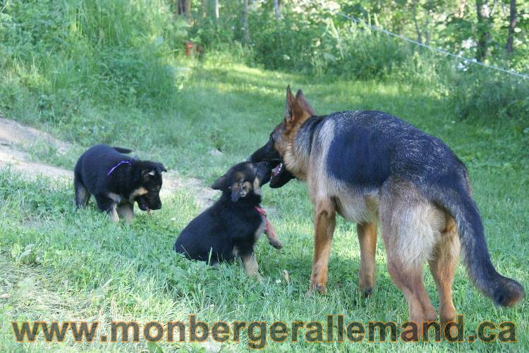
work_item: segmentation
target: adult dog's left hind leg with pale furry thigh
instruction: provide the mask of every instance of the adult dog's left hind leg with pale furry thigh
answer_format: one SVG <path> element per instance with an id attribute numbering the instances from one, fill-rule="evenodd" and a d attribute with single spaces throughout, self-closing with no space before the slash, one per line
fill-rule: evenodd
<path id="1" fill-rule="evenodd" d="M 444 215 L 405 183 L 382 188 L 379 214 L 389 274 L 422 335 L 422 324 L 437 320 L 423 282 L 423 264 L 439 240 L 436 230 L 442 229 Z"/>

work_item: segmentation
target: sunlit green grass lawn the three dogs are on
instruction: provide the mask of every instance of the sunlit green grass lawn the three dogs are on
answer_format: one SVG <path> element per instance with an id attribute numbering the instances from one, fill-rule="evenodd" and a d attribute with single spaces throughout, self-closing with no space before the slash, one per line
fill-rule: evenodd
<path id="1" fill-rule="evenodd" d="M 61 121 L 39 118 L 31 104 L 13 111 L 17 120 L 51 132 L 74 145 L 71 154 L 56 157 L 37 145 L 35 159 L 73 168 L 83 148 L 96 143 L 134 147 L 140 156 L 162 161 L 167 168 L 209 185 L 231 164 L 245 159 L 267 140 L 284 111 L 287 84 L 302 88 L 317 113 L 348 109 L 388 111 L 442 138 L 470 170 L 473 194 L 485 224 L 487 243 L 498 271 L 529 284 L 529 154 L 528 129 L 514 123 L 481 126 L 458 120 L 442 97 L 400 82 L 314 79 L 248 68 L 205 63 L 188 75 L 176 94 L 174 108 L 159 111 L 126 106 L 81 105 Z M 525 132 L 524 132 L 525 131 Z M 221 156 L 209 150 L 219 149 Z M 70 182 L 25 180 L 0 171 L 0 350 L 49 347 L 139 350 L 145 342 L 92 345 L 16 343 L 11 321 L 99 321 L 101 333 L 109 322 L 186 321 L 321 321 L 327 314 L 344 314 L 348 321 L 395 321 L 408 318 L 403 295 L 391 283 L 382 241 L 377 249 L 377 285 L 364 299 L 358 292 L 360 253 L 355 226 L 339 220 L 329 264 L 328 294 L 305 298 L 312 261 L 312 206 L 306 187 L 290 182 L 279 190 L 264 189 L 264 206 L 276 211 L 271 221 L 284 242 L 277 252 L 265 240 L 257 245 L 263 283 L 248 278 L 238 264 L 209 267 L 176 256 L 178 233 L 199 211 L 189 190 L 162 200 L 162 210 L 140 214 L 132 225 L 114 225 L 89 207 L 75 211 Z M 288 271 L 289 282 L 283 271 Z M 434 306 L 437 291 L 425 268 L 427 290 Z M 270 342 L 267 348 L 299 352 L 322 349 L 373 351 L 463 351 L 529 349 L 527 302 L 514 309 L 494 307 L 470 284 L 462 266 L 456 272 L 454 304 L 465 315 L 466 335 L 480 321 L 514 321 L 517 343 L 310 343 Z M 222 351 L 247 349 L 225 343 Z M 165 337 L 164 337 L 165 338 Z M 171 349 L 203 349 L 200 344 L 169 344 Z M 154 346 L 149 346 L 154 349 Z M 218 349 L 219 346 L 215 346 Z"/>

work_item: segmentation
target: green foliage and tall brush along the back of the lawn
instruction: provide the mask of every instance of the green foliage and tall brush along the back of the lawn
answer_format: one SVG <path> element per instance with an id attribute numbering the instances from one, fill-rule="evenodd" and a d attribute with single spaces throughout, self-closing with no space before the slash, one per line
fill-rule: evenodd
<path id="1" fill-rule="evenodd" d="M 273 1 L 250 1 L 246 10 L 244 1 L 220 1 L 218 19 L 214 1 L 190 1 L 190 12 L 178 15 L 180 1 L 190 0 L 0 1 L 0 107 L 35 107 L 57 123 L 86 101 L 163 109 L 182 87 L 188 70 L 180 62 L 186 42 L 193 42 L 201 58 L 269 70 L 413 80 L 443 97 L 460 118 L 528 116 L 527 80 L 432 54 L 327 11 L 473 58 L 483 28 L 476 19 L 480 3 L 488 16 L 482 60 L 528 73 L 527 1 L 515 1 L 512 52 L 505 49 L 509 1 L 279 1 L 279 19 Z"/>

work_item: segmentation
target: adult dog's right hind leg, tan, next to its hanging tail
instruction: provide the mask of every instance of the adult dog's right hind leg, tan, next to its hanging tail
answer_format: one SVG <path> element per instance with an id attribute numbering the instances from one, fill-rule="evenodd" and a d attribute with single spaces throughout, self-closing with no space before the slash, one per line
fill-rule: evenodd
<path id="1" fill-rule="evenodd" d="M 452 283 L 461 248 L 454 219 L 446 215 L 446 220 L 446 229 L 435 247 L 433 258 L 428 261 L 439 293 L 439 316 L 442 328 L 447 322 L 456 319 L 456 308 L 452 302 Z"/>

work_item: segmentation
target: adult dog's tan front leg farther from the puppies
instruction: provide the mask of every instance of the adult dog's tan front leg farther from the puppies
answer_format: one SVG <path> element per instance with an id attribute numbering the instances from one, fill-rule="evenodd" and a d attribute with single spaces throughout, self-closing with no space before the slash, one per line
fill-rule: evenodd
<path id="1" fill-rule="evenodd" d="M 365 297 L 371 295 L 375 286 L 375 252 L 377 251 L 377 223 L 359 223 L 356 225 L 360 243 L 360 269 L 358 286 Z"/>

